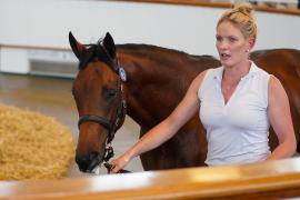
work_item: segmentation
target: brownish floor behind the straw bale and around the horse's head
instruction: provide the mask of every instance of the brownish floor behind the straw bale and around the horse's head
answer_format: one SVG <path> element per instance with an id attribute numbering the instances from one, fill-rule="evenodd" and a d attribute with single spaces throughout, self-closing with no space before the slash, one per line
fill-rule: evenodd
<path id="1" fill-rule="evenodd" d="M 76 143 L 78 114 L 71 87 L 71 79 L 0 73 L 0 103 L 27 108 L 56 118 L 60 123 L 69 127 Z M 138 140 L 138 124 L 127 117 L 112 142 L 116 156 Z M 139 158 L 133 159 L 127 169 L 133 172 L 142 171 Z M 100 174 L 103 173 L 106 170 L 101 168 Z M 71 164 L 68 178 L 86 176 L 92 174 L 80 172 L 74 162 Z"/>

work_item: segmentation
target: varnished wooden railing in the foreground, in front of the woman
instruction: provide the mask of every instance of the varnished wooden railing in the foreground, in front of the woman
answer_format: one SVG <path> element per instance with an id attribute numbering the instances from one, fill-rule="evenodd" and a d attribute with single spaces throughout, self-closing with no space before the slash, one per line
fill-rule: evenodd
<path id="1" fill-rule="evenodd" d="M 0 183 L 0 199 L 279 199 L 294 197 L 300 197 L 300 158 L 232 167 Z"/>

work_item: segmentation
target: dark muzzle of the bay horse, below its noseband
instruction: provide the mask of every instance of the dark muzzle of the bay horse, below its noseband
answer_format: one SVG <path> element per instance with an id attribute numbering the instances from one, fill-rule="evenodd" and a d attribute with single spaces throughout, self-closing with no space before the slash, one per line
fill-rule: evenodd
<path id="1" fill-rule="evenodd" d="M 97 151 L 90 152 L 88 156 L 77 154 L 76 162 L 80 171 L 91 173 L 97 166 L 102 163 L 102 157 Z"/>

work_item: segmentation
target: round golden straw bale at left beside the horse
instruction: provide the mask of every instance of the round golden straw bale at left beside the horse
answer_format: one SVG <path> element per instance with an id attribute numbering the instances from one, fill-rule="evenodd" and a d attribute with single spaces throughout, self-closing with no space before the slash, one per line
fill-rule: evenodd
<path id="1" fill-rule="evenodd" d="M 62 178 L 73 154 L 71 133 L 56 119 L 0 104 L 0 180 Z"/>

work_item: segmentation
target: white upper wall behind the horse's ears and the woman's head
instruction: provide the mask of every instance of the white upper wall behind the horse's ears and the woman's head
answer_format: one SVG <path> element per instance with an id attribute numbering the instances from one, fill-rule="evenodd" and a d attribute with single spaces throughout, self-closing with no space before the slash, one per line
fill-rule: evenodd
<path id="1" fill-rule="evenodd" d="M 70 30 L 83 43 L 109 31 L 116 43 L 150 43 L 216 56 L 216 23 L 222 11 L 139 2 L 0 0 L 0 44 L 69 48 Z M 299 16 L 257 12 L 257 22 L 256 49 L 300 49 Z M 0 69 L 7 69 L 2 61 Z"/>

